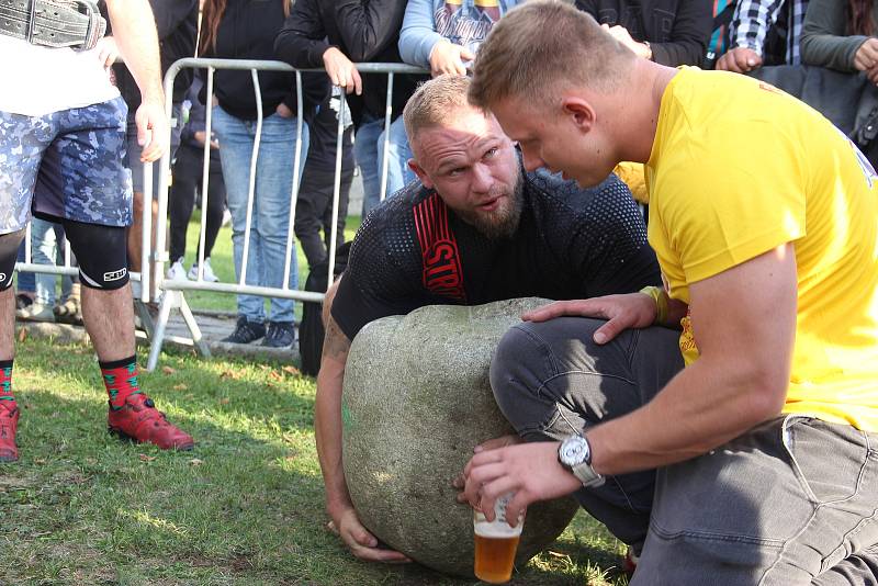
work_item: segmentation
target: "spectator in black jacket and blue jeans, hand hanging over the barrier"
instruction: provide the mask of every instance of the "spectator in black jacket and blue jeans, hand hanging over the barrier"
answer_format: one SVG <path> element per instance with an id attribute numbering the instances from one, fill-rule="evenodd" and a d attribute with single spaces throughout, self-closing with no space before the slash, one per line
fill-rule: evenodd
<path id="1" fill-rule="evenodd" d="M 275 42 L 281 59 L 297 68 L 323 67 L 333 84 L 351 94 L 348 103 L 357 128 L 354 155 L 363 179 L 363 217 L 382 198 L 387 76 L 360 76 L 353 63 L 402 63 L 396 45 L 405 5 L 405 0 L 297 0 Z M 394 77 L 386 194 L 414 179 L 399 115 L 418 80 L 418 76 Z"/>

